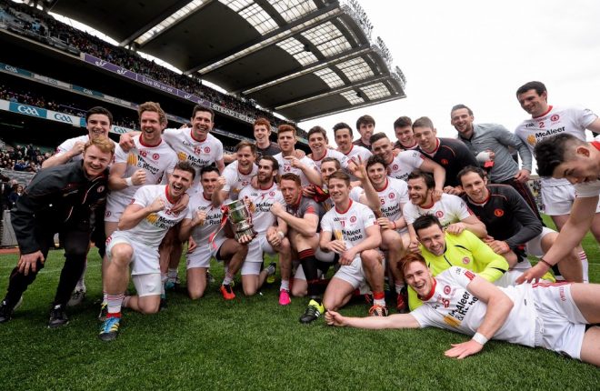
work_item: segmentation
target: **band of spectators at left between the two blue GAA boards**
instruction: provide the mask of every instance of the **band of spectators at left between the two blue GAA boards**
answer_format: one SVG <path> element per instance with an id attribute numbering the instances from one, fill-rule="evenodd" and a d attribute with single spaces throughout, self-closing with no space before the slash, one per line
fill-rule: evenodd
<path id="1" fill-rule="evenodd" d="M 85 117 L 86 112 L 86 109 L 77 107 L 76 104 L 72 102 L 58 103 L 54 100 L 45 98 L 43 95 L 32 93 L 31 91 L 18 90 L 14 86 L 7 87 L 5 85 L 0 85 L 0 99 L 25 105 L 35 105 L 36 107 L 42 107 L 48 110 L 80 117 Z M 136 115 L 115 118 L 113 125 L 135 129 L 137 127 Z"/>

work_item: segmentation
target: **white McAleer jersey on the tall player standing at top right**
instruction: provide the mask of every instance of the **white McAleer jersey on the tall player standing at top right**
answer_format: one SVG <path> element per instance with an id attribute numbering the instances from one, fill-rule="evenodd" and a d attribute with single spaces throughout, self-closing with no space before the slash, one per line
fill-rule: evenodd
<path id="1" fill-rule="evenodd" d="M 587 108 L 551 105 L 544 115 L 525 119 L 516 126 L 515 135 L 523 140 L 531 154 L 534 155 L 537 142 L 552 135 L 565 133 L 585 141 L 585 128 L 592 124 L 597 117 L 598 115 Z M 543 187 L 570 185 L 566 179 L 546 177 L 541 178 L 541 184 Z"/>

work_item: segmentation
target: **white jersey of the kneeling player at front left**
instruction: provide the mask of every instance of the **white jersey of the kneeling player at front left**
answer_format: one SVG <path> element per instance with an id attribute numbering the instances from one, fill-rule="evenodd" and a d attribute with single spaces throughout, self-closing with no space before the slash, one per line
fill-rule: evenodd
<path id="1" fill-rule="evenodd" d="M 166 232 L 187 215 L 187 208 L 178 213 L 171 210 L 176 202 L 172 202 L 167 196 L 167 185 L 145 185 L 140 187 L 135 192 L 130 204 L 145 207 L 151 205 L 156 198 L 165 201 L 165 209 L 145 216 L 137 226 L 122 232 L 136 243 L 142 243 L 145 246 L 157 249 Z M 107 242 L 109 241 L 110 238 L 107 239 Z"/>

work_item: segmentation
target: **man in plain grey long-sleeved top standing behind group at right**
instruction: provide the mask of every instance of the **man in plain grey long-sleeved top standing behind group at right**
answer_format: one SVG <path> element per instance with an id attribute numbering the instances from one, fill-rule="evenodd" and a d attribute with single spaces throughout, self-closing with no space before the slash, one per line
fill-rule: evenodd
<path id="1" fill-rule="evenodd" d="M 474 124 L 473 111 L 465 105 L 455 105 L 450 112 L 450 123 L 458 132 L 458 139 L 465 143 L 467 148 L 477 156 L 482 153 L 493 153 L 488 175 L 494 184 L 511 185 L 525 199 L 525 202 L 534 211 L 540 222 L 540 216 L 534 195 L 527 185 L 531 174 L 531 152 L 521 139 L 510 133 L 505 126 L 498 124 Z M 509 148 L 514 148 L 523 165 L 519 165 L 512 158 Z"/>

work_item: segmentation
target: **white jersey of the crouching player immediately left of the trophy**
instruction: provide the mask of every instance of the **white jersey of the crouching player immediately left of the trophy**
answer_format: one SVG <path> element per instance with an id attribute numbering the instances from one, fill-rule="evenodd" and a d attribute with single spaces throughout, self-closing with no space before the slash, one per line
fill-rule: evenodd
<path id="1" fill-rule="evenodd" d="M 224 204 L 228 204 L 230 202 L 231 200 L 226 200 Z M 202 226 L 195 226 L 194 229 L 192 229 L 192 237 L 198 246 L 204 246 L 206 243 L 208 243 L 208 237 L 211 236 L 211 234 L 217 229 L 219 229 L 223 212 L 221 211 L 221 206 L 213 206 L 212 201 L 210 199 L 206 199 L 202 191 L 196 192 L 194 195 L 190 196 L 190 202 L 187 205 L 187 215 L 185 218 L 194 220 L 195 213 L 200 211 L 204 211 L 206 214 L 205 224 Z M 219 234 L 215 237 L 215 242 L 218 243 L 218 239 L 221 237 L 225 237 L 224 230 L 221 230 L 221 232 L 219 232 Z"/>

